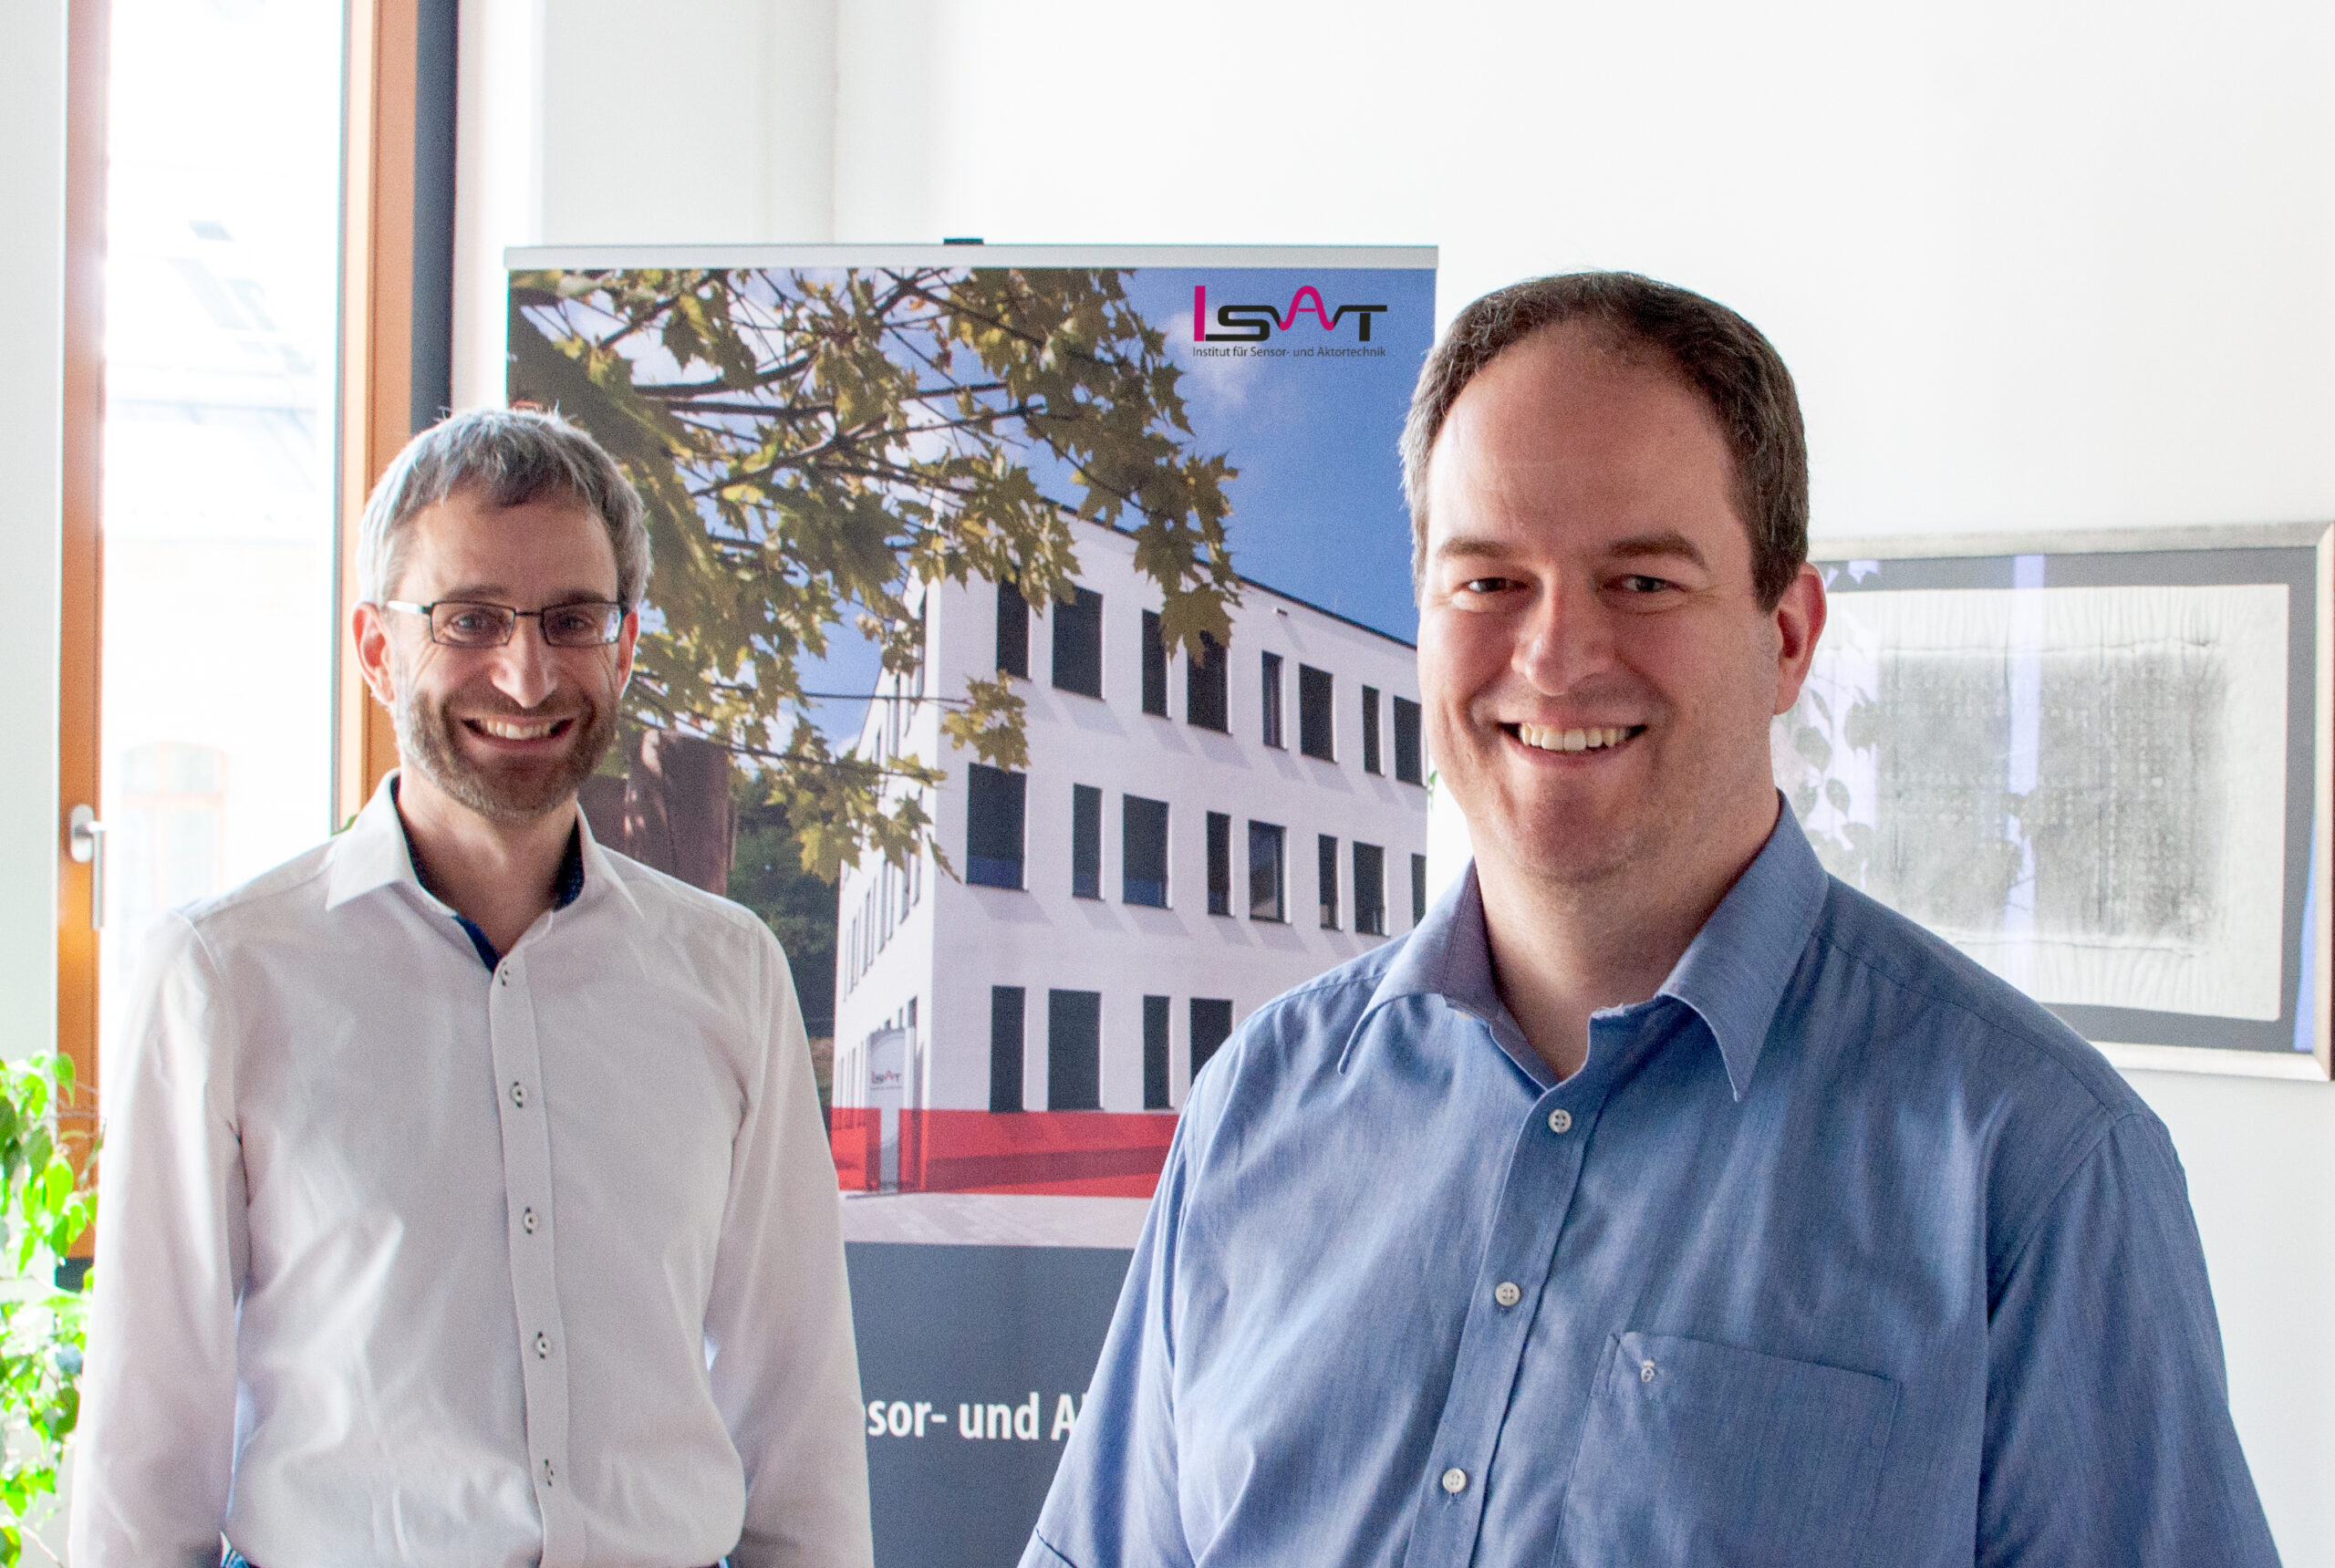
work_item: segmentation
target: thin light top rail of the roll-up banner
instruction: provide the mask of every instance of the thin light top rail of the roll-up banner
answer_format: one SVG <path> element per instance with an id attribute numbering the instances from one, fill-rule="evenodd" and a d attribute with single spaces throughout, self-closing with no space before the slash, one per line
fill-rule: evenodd
<path id="1" fill-rule="evenodd" d="M 1420 269 L 1434 245 L 511 245 L 504 271 L 623 266 L 1336 266 Z"/>

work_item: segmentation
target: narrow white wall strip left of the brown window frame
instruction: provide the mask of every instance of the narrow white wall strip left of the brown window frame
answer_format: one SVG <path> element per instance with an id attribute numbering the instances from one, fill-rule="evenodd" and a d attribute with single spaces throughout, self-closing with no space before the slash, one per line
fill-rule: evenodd
<path id="1" fill-rule="evenodd" d="M 0 7 L 0 1056 L 56 1049 L 65 0 Z"/>

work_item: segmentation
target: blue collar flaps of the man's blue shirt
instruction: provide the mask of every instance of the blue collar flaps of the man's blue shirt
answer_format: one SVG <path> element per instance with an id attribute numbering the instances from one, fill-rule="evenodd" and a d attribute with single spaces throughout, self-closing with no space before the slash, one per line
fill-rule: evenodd
<path id="1" fill-rule="evenodd" d="M 1656 993 L 1686 1002 L 1705 1021 L 1719 1042 L 1728 1089 L 1737 1101 L 1751 1091 L 1768 1026 L 1817 930 L 1824 893 L 1824 865 L 1807 846 L 1791 804 L 1779 802 L 1768 844 L 1719 900 L 1719 909 L 1686 944 L 1686 953 Z M 1473 862 L 1387 963 L 1364 1017 L 1401 995 L 1441 995 L 1459 1012 L 1483 1019 L 1492 1040 L 1525 1073 L 1548 1082 L 1548 1068 L 1499 1000 Z"/>

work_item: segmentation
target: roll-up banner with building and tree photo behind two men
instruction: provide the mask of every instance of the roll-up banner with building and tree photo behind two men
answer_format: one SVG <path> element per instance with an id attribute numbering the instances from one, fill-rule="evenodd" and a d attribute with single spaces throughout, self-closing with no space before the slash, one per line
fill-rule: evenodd
<path id="1" fill-rule="evenodd" d="M 883 1568 L 1020 1556 L 1193 1075 L 1424 911 L 1434 259 L 509 257 L 656 549 L 593 832 L 794 967 Z"/>

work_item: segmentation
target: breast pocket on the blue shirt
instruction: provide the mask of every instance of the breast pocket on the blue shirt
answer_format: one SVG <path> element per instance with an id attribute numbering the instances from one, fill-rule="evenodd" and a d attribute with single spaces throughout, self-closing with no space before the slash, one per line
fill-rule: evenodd
<path id="1" fill-rule="evenodd" d="M 1560 1568 L 1854 1563 L 1898 1390 L 1884 1376 L 1674 1334 L 1613 1334 L 1581 1432 Z"/>

